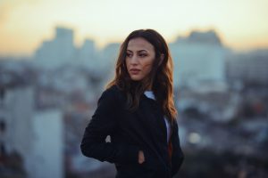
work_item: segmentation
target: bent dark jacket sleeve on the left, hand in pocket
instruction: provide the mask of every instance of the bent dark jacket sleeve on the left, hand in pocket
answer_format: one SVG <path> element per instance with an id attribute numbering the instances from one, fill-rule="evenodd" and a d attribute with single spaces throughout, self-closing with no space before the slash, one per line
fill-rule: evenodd
<path id="1" fill-rule="evenodd" d="M 88 158 L 96 158 L 110 163 L 138 162 L 138 147 L 127 144 L 105 142 L 107 135 L 117 128 L 116 110 L 118 100 L 116 92 L 106 90 L 97 102 L 97 108 L 89 121 L 80 150 Z"/>

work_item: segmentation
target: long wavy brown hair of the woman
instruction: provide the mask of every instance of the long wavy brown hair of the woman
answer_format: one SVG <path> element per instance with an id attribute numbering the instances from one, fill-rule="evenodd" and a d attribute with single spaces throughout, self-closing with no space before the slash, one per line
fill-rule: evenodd
<path id="1" fill-rule="evenodd" d="M 127 47 L 131 39 L 142 37 L 155 48 L 155 61 L 149 75 L 142 81 L 133 81 L 126 67 Z M 162 61 L 163 60 L 163 61 Z M 163 36 L 154 29 L 138 29 L 130 33 L 121 44 L 116 62 L 115 77 L 107 85 L 117 85 L 127 95 L 127 108 L 135 110 L 141 95 L 152 86 L 156 101 L 162 106 L 163 114 L 172 122 L 177 115 L 173 101 L 172 57 Z"/>

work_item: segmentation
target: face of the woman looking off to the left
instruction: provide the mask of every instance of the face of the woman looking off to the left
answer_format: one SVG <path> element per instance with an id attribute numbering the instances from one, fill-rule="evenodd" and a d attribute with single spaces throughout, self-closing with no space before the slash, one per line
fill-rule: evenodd
<path id="1" fill-rule="evenodd" d="M 130 39 L 126 65 L 130 78 L 140 81 L 150 73 L 155 61 L 155 48 L 142 37 Z"/>

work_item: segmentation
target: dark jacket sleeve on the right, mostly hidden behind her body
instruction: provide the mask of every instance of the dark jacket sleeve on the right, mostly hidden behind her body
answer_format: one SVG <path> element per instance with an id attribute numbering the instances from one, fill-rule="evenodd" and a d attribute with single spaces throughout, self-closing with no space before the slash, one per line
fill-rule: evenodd
<path id="1" fill-rule="evenodd" d="M 177 174 L 184 160 L 184 154 L 180 149 L 180 138 L 177 121 L 174 122 L 172 134 L 172 176 Z"/>

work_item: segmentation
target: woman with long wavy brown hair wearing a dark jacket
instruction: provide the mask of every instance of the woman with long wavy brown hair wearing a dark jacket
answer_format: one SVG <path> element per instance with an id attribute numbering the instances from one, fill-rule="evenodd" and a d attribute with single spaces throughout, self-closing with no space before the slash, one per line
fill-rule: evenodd
<path id="1" fill-rule="evenodd" d="M 176 114 L 168 46 L 153 29 L 135 30 L 121 44 L 115 77 L 86 127 L 81 151 L 114 163 L 116 178 L 170 178 L 183 160 Z"/>

